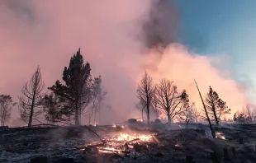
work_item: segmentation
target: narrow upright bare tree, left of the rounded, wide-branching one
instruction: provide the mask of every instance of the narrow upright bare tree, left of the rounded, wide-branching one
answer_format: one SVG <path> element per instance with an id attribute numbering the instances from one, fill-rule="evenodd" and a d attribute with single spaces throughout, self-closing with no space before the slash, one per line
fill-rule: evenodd
<path id="1" fill-rule="evenodd" d="M 144 76 L 140 80 L 140 83 L 138 84 L 137 94 L 142 106 L 145 107 L 148 124 L 150 122 L 149 107 L 154 101 L 154 92 L 155 86 L 153 79 L 148 75 L 147 72 L 145 72 Z"/>

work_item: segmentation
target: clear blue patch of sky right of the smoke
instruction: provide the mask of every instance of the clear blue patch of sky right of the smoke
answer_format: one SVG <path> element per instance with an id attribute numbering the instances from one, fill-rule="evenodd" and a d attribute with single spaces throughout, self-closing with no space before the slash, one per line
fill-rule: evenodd
<path id="1" fill-rule="evenodd" d="M 181 40 L 197 53 L 225 54 L 236 80 L 255 89 L 256 1 L 176 0 L 181 13 Z M 250 95 L 254 95 L 251 90 Z M 254 100 L 256 95 L 254 95 Z"/>

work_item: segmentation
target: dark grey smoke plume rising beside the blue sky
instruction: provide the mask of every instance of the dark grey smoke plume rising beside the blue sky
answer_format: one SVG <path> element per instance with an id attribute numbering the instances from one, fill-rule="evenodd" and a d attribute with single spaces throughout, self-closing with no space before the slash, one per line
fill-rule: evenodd
<path id="1" fill-rule="evenodd" d="M 166 47 L 176 40 L 178 12 L 172 1 L 154 1 L 140 33 L 149 49 Z"/>

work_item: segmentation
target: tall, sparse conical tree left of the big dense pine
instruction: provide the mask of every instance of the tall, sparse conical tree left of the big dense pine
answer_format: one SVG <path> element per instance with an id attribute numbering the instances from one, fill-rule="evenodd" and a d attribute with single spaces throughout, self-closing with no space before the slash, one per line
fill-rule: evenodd
<path id="1" fill-rule="evenodd" d="M 42 91 L 45 87 L 42 80 L 39 66 L 36 68 L 36 72 L 31 77 L 30 81 L 27 81 L 23 86 L 19 96 L 19 113 L 21 119 L 28 123 L 28 127 L 32 125 L 32 119 L 41 113 L 39 106 L 43 98 Z"/>

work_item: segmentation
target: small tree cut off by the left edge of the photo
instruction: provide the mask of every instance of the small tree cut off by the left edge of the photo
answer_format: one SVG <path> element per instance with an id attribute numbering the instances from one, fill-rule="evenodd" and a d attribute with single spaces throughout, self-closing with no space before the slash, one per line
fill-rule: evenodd
<path id="1" fill-rule="evenodd" d="M 11 119 L 12 106 L 17 103 L 12 101 L 11 95 L 0 95 L 0 120 L 4 126 Z"/>

